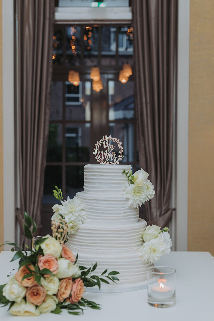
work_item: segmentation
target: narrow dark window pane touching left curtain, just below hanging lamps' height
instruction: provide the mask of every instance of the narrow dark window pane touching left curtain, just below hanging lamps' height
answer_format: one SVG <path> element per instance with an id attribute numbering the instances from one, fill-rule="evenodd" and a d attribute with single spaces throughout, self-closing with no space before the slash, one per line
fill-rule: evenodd
<path id="1" fill-rule="evenodd" d="M 50 98 L 50 120 L 62 119 L 63 83 L 52 81 Z"/>

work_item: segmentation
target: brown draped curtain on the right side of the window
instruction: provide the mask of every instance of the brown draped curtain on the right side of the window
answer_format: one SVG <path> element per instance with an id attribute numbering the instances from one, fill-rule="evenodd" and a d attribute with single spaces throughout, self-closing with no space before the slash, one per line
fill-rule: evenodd
<path id="1" fill-rule="evenodd" d="M 134 76 L 139 165 L 155 187 L 145 203 L 148 224 L 165 226 L 172 216 L 173 101 L 176 0 L 134 0 Z"/>

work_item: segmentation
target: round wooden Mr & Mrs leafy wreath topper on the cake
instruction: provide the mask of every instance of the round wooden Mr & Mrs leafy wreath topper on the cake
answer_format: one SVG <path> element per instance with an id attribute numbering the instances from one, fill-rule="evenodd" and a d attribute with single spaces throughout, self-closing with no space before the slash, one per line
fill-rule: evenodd
<path id="1" fill-rule="evenodd" d="M 115 143 L 119 148 L 118 154 L 114 152 Z M 119 139 L 111 137 L 111 135 L 105 135 L 99 142 L 97 141 L 93 154 L 95 155 L 94 157 L 97 160 L 97 163 L 106 165 L 119 164 L 120 160 L 124 157 L 122 143 Z"/>

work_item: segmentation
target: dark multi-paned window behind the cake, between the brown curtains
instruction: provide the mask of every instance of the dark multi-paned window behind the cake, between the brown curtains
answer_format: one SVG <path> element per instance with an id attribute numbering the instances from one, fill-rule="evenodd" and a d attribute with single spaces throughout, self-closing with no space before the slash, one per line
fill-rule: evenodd
<path id="1" fill-rule="evenodd" d="M 125 84 L 118 80 L 122 65 L 132 64 L 132 39 L 132 29 L 125 25 L 55 26 L 43 233 L 49 232 L 51 207 L 56 203 L 54 185 L 62 188 L 64 198 L 83 191 L 84 165 L 96 163 L 94 144 L 103 135 L 119 138 L 124 146 L 122 162 L 138 169 L 134 82 L 132 76 Z M 92 89 L 94 65 L 103 81 L 100 92 Z M 70 70 L 79 72 L 79 86 L 68 82 Z"/>

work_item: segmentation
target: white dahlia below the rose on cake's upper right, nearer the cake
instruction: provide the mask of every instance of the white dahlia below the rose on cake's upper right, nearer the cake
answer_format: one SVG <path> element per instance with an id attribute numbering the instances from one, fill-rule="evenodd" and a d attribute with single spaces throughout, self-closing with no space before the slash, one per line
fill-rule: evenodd
<path id="1" fill-rule="evenodd" d="M 129 199 L 129 206 L 133 205 L 134 208 L 138 208 L 147 201 L 145 183 L 141 186 L 127 183 L 124 195 Z"/>

